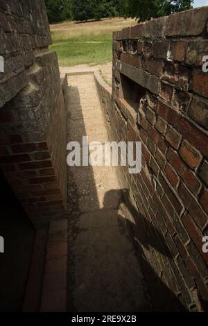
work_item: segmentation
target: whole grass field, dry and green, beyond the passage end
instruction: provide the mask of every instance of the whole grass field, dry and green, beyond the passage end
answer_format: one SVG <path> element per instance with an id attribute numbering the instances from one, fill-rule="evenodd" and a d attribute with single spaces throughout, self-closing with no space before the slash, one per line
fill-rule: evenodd
<path id="1" fill-rule="evenodd" d="M 51 25 L 59 65 L 100 65 L 112 61 L 112 32 L 137 24 L 135 19 L 103 19 L 100 22 L 64 22 Z"/>

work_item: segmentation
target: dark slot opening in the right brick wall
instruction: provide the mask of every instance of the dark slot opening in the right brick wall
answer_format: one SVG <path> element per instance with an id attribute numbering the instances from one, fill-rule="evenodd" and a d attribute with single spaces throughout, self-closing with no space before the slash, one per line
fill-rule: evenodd
<path id="1" fill-rule="evenodd" d="M 123 99 L 136 112 L 139 109 L 139 102 L 146 94 L 146 89 L 135 83 L 134 80 L 121 74 L 120 98 Z"/>

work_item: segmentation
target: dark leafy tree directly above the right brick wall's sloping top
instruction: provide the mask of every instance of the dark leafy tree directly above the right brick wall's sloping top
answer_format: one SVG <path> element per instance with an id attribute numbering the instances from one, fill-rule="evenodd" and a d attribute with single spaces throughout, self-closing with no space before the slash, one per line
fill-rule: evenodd
<path id="1" fill-rule="evenodd" d="M 192 8 L 193 0 L 121 0 L 124 17 L 146 19 L 171 15 Z"/>

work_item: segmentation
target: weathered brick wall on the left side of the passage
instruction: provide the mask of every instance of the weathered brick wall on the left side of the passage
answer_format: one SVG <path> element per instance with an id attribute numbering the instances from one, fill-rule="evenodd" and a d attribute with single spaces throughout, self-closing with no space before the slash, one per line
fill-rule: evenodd
<path id="1" fill-rule="evenodd" d="M 37 228 L 66 207 L 66 113 L 44 0 L 0 0 L 0 168 Z"/>

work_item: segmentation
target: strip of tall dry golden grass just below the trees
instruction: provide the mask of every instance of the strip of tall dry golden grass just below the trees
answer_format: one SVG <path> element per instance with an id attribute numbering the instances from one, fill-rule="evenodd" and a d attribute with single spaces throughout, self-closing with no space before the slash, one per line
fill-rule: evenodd
<path id="1" fill-rule="evenodd" d="M 102 19 L 99 22 L 64 22 L 51 25 L 53 42 L 61 40 L 80 40 L 111 35 L 113 31 L 137 24 L 135 19 Z"/>

